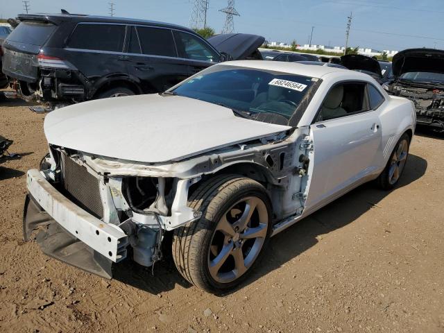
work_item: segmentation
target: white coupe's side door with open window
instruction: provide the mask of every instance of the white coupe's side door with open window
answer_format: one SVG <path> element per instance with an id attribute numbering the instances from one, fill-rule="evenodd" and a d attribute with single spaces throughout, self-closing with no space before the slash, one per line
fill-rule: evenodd
<path id="1" fill-rule="evenodd" d="M 342 96 L 330 99 L 341 87 Z M 380 169 L 383 157 L 379 111 L 370 107 L 366 83 L 340 83 L 327 93 L 310 126 L 314 150 L 307 211 L 316 210 L 357 183 L 369 180 Z"/>

